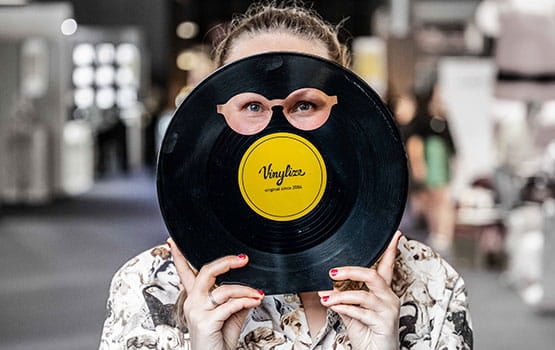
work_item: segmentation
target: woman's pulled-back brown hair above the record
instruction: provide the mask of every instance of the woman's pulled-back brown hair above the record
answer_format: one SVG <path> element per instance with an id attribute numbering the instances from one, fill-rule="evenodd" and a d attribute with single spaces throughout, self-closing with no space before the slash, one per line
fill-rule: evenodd
<path id="1" fill-rule="evenodd" d="M 351 63 L 347 45 L 339 40 L 343 22 L 332 25 L 326 22 L 301 1 L 275 1 L 254 3 L 240 16 L 232 19 L 224 28 L 222 40 L 214 50 L 214 61 L 222 66 L 234 41 L 245 33 L 286 32 L 307 40 L 320 40 L 328 49 L 332 61 L 343 66 Z"/>

